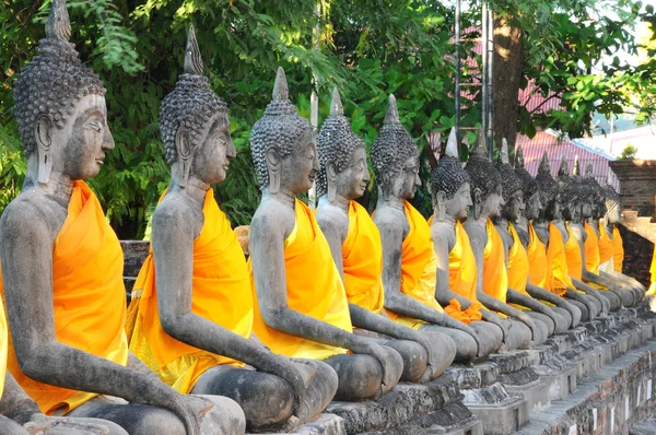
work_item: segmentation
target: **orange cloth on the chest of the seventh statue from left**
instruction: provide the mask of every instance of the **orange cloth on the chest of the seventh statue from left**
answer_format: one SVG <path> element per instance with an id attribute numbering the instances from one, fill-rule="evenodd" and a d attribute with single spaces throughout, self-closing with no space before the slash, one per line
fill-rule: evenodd
<path id="1" fill-rule="evenodd" d="M 505 304 L 508 292 L 508 274 L 505 247 L 491 220 L 485 223 L 488 243 L 483 250 L 483 292 Z"/>

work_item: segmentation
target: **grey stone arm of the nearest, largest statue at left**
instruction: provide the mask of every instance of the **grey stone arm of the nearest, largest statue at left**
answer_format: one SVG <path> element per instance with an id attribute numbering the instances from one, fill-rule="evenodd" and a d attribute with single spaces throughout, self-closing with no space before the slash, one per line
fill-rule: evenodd
<path id="1" fill-rule="evenodd" d="M 55 232 L 46 226 L 51 216 L 42 215 L 27 221 L 21 217 L 39 214 L 31 205 L 26 210 L 19 209 L 17 213 L 15 210 L 5 211 L 0 228 L 8 317 L 23 373 L 57 387 L 169 409 L 180 418 L 189 434 L 198 434 L 198 421 L 191 403 L 173 388 L 159 379 L 57 341 L 51 275 Z M 19 258 L 22 260 L 14 260 Z"/>

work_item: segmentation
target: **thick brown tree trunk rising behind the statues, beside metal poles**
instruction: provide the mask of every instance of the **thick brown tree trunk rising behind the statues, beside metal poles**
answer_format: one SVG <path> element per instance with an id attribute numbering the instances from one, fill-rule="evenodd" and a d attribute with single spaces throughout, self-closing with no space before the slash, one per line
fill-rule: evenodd
<path id="1" fill-rule="evenodd" d="M 524 67 L 522 28 L 509 24 L 505 19 L 494 23 L 494 143 L 508 141 L 511 153 L 517 138 L 519 114 L 519 83 Z"/>

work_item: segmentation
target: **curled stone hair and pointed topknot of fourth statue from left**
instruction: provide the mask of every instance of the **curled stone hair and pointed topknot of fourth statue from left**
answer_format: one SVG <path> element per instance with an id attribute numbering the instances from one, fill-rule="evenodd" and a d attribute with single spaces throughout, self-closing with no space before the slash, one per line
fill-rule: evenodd
<path id="1" fill-rule="evenodd" d="M 344 171 L 351 162 L 353 152 L 364 148 L 364 141 L 353 133 L 349 120 L 344 117 L 339 91 L 332 90 L 330 116 L 326 118 L 317 134 L 317 151 L 319 152 L 320 168 L 317 177 L 317 197 L 328 191 L 327 167 L 335 165 L 338 173 Z"/>

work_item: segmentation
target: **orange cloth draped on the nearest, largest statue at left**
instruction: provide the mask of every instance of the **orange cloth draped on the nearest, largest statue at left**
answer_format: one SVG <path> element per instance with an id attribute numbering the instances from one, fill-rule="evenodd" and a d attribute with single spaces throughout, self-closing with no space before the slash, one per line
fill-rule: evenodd
<path id="1" fill-rule="evenodd" d="M 116 364 L 128 362 L 122 249 L 96 196 L 82 180 L 73 183 L 68 215 L 52 246 L 52 314 L 60 343 Z M 0 281 L 0 292 L 4 287 Z M 96 393 L 34 380 L 19 366 L 9 345 L 8 367 L 42 412 L 72 411 Z"/>

